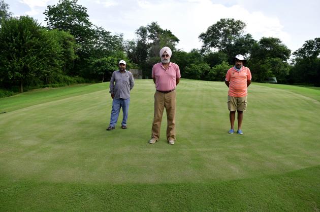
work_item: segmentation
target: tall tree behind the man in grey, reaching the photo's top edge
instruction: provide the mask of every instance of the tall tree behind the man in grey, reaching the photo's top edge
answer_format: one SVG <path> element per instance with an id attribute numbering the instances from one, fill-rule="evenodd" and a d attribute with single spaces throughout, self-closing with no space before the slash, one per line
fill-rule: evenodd
<path id="1" fill-rule="evenodd" d="M 123 52 L 122 34 L 111 35 L 102 27 L 94 26 L 88 19 L 87 9 L 77 5 L 77 0 L 59 0 L 57 5 L 48 6 L 44 14 L 47 16 L 47 28 L 69 31 L 77 41 L 77 60 L 68 70 L 69 75 L 98 79 L 100 75 L 94 73 L 100 72 L 91 71 L 92 63 L 94 66 L 103 64 L 94 61 L 104 61 L 103 58 L 110 57 L 113 52 Z"/>

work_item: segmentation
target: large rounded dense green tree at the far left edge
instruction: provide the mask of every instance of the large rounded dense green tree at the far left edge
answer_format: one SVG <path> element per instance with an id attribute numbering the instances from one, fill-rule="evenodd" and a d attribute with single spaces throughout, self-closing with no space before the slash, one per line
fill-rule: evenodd
<path id="1" fill-rule="evenodd" d="M 25 83 L 59 72 L 63 65 L 62 47 L 53 32 L 31 17 L 3 21 L 0 43 L 0 80 L 19 83 L 20 92 Z"/>

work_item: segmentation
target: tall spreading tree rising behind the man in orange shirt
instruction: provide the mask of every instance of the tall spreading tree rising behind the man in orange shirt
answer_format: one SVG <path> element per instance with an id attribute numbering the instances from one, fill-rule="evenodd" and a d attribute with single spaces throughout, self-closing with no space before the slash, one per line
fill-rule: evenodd
<path id="1" fill-rule="evenodd" d="M 203 49 L 208 52 L 210 48 L 214 48 L 226 53 L 229 62 L 237 54 L 247 55 L 255 41 L 250 34 L 243 35 L 245 27 L 246 24 L 240 20 L 220 19 L 199 35 L 203 41 Z"/>

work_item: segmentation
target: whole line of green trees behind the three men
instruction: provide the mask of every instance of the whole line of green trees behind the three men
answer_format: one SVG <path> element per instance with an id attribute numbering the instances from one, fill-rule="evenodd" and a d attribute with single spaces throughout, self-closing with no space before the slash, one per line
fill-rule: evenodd
<path id="1" fill-rule="evenodd" d="M 253 81 L 276 77 L 279 83 L 320 86 L 320 38 L 305 41 L 292 53 L 279 38 L 254 40 L 244 33 L 246 23 L 226 18 L 199 35 L 201 49 L 185 52 L 176 48 L 179 38 L 157 22 L 140 26 L 132 40 L 111 34 L 93 25 L 77 0 L 47 6 L 46 26 L 29 16 L 14 17 L 9 8 L 0 1 L 2 91 L 106 81 L 121 59 L 127 61 L 127 69 L 142 69 L 143 78 L 150 78 L 164 46 L 173 50 L 171 61 L 179 65 L 183 78 L 223 81 L 233 57 L 242 54 Z"/>

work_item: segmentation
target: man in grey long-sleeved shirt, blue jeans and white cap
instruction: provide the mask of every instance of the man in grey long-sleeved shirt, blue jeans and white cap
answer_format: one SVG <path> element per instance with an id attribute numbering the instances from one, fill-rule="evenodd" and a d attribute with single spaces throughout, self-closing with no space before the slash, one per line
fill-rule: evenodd
<path id="1" fill-rule="evenodd" d="M 112 100 L 112 111 L 110 116 L 110 124 L 107 131 L 115 129 L 118 121 L 120 108 L 122 107 L 123 119 L 121 128 L 126 129 L 126 120 L 128 118 L 130 91 L 135 85 L 133 75 L 130 71 L 125 70 L 126 64 L 124 60 L 119 61 L 119 70 L 112 73 L 110 79 L 110 93 Z"/>

